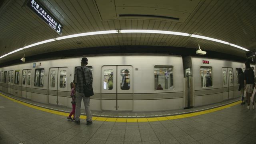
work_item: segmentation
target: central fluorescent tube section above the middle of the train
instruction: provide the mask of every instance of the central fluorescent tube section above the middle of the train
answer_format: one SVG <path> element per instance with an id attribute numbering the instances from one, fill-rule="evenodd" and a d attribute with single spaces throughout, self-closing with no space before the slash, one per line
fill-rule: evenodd
<path id="1" fill-rule="evenodd" d="M 155 33 L 155 34 L 173 34 L 179 36 L 189 36 L 187 33 L 183 32 L 172 32 L 165 30 L 120 30 L 121 33 Z"/>

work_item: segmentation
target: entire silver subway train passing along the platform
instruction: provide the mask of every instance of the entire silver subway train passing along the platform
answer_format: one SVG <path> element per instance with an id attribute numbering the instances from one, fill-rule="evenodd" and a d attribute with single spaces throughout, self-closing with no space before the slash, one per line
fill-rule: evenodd
<path id="1" fill-rule="evenodd" d="M 164 111 L 240 97 L 242 62 L 177 55 L 89 56 L 91 110 Z M 0 90 L 24 99 L 71 108 L 70 83 L 82 58 L 0 68 Z M 82 106 L 84 108 L 84 106 Z"/>

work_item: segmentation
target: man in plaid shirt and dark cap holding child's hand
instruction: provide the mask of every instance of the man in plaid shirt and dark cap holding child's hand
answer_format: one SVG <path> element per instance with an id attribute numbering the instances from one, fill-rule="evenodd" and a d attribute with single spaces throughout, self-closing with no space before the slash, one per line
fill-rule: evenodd
<path id="1" fill-rule="evenodd" d="M 90 110 L 90 97 L 84 96 L 84 84 L 92 84 L 92 71 L 86 67 L 88 64 L 87 58 L 82 58 L 81 60 L 81 67 L 78 67 L 75 69 L 74 74 L 74 81 L 76 84 L 76 111 L 75 111 L 75 122 L 76 124 L 80 124 L 80 110 L 81 110 L 81 102 L 82 98 L 84 100 L 84 107 L 86 112 L 86 125 L 92 124 L 92 112 Z M 83 80 L 83 74 L 82 71 L 84 71 L 84 80 Z"/>

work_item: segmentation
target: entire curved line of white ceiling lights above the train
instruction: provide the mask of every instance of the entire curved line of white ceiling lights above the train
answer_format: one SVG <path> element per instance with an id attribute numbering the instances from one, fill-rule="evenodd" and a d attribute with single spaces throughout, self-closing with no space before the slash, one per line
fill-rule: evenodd
<path id="1" fill-rule="evenodd" d="M 34 43 L 34 44 L 30 44 L 28 46 L 24 46 L 24 48 L 19 48 L 17 50 L 9 52 L 8 54 L 4 54 L 0 58 L 8 56 L 9 54 L 13 54 L 15 52 L 18 52 L 20 50 L 30 48 L 32 46 L 37 46 L 37 45 L 40 45 L 40 44 L 53 42 L 55 40 L 63 40 L 63 39 L 66 39 L 66 38 L 75 38 L 75 37 L 79 37 L 79 36 L 91 36 L 91 35 L 97 35 L 97 34 L 115 34 L 115 33 L 154 33 L 154 34 L 172 34 L 172 35 L 178 35 L 178 36 L 191 36 L 191 37 L 194 37 L 194 38 L 201 38 L 201 39 L 205 39 L 205 40 L 211 40 L 211 41 L 214 41 L 214 42 L 220 42 L 222 44 L 227 44 L 227 45 L 230 45 L 230 46 L 234 46 L 236 48 L 240 48 L 240 49 L 245 50 L 245 51 L 249 51 L 246 48 L 243 48 L 241 46 L 237 46 L 235 44 L 231 44 L 229 42 L 225 42 L 223 40 L 218 40 L 218 39 L 215 39 L 215 38 L 209 38 L 209 37 L 206 37 L 206 36 L 199 36 L 199 35 L 196 35 L 196 34 L 188 34 L 188 33 L 183 33 L 183 32 L 172 32 L 172 31 L 165 31 L 165 30 L 105 30 L 105 31 L 97 31 L 97 32 L 85 32 L 85 33 L 81 33 L 81 34 L 72 34 L 72 35 L 68 35 L 68 36 L 62 36 L 62 37 L 58 37 L 58 38 L 52 38 L 52 39 L 49 39 L 49 40 L 44 40 L 42 42 L 37 42 L 37 43 Z"/>

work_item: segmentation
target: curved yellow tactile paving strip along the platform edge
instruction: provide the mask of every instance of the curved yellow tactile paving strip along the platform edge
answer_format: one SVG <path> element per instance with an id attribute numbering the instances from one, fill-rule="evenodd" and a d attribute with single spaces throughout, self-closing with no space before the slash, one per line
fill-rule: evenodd
<path id="1" fill-rule="evenodd" d="M 47 108 L 41 108 L 39 106 L 34 106 L 32 104 L 27 104 L 25 102 L 21 102 L 19 100 L 15 100 L 14 98 L 10 98 L 8 96 L 5 96 L 4 94 L 1 94 L 1 93 L 0 93 L 0 96 L 3 96 L 5 98 L 7 98 L 9 100 L 12 100 L 14 102 L 17 102 L 19 104 L 23 104 L 24 106 L 28 106 L 30 108 L 35 108 L 37 110 L 42 110 L 44 112 L 50 112 L 52 114 L 58 114 L 58 115 L 61 115 L 61 116 L 68 116 L 69 115 L 69 113 L 66 113 L 66 112 L 59 112 L 59 111 L 56 111 L 56 110 L 49 110 Z M 189 114 L 180 114 L 180 115 L 175 115 L 175 116 L 162 116 L 162 117 L 155 117 L 155 118 L 105 118 L 105 117 L 93 116 L 92 120 L 106 121 L 106 122 L 156 122 L 156 121 L 162 121 L 162 120 L 174 120 L 174 119 L 198 116 L 198 115 L 201 115 L 201 114 L 208 114 L 210 112 L 216 112 L 218 110 L 229 108 L 229 107 L 235 106 L 237 104 L 240 104 L 240 101 L 233 102 L 233 103 L 227 104 L 225 106 L 220 106 L 218 108 L 212 108 L 210 110 L 204 110 L 204 111 L 200 111 L 200 112 L 193 112 L 193 113 L 189 113 Z M 81 119 L 86 119 L 86 116 L 80 116 L 80 118 Z"/>

